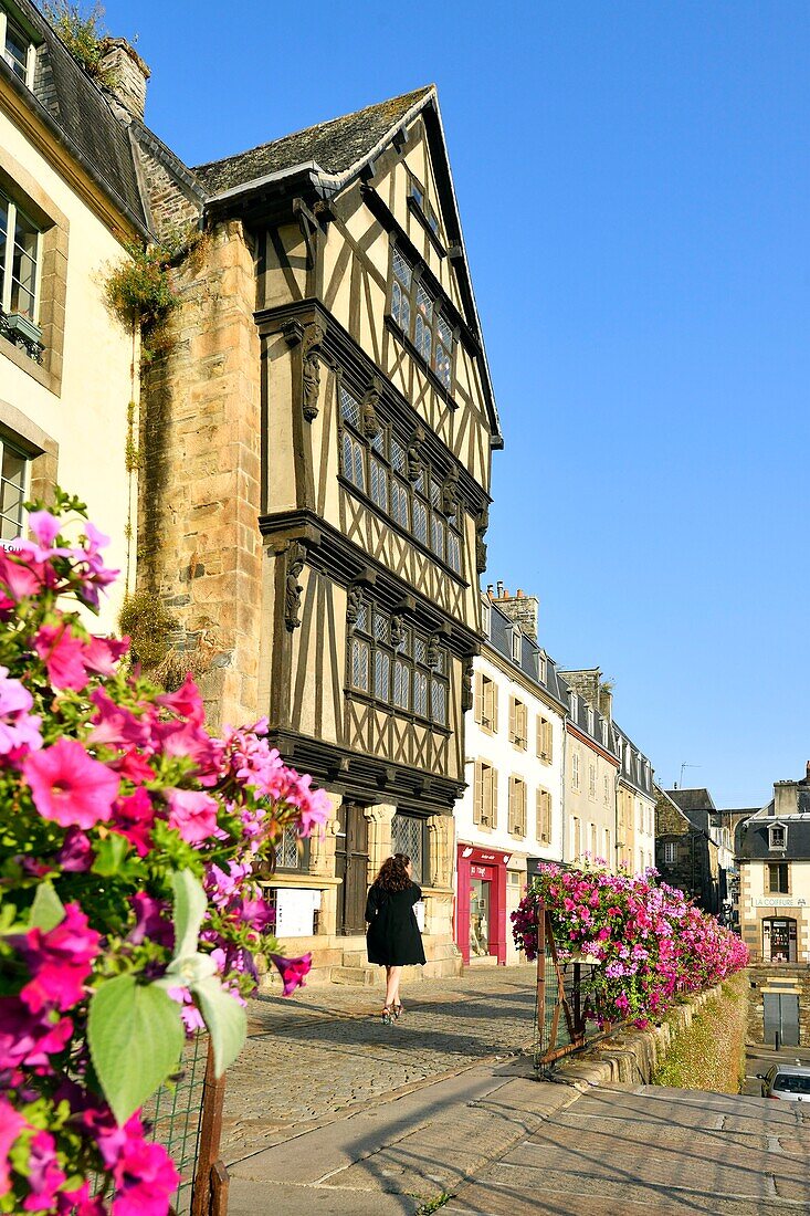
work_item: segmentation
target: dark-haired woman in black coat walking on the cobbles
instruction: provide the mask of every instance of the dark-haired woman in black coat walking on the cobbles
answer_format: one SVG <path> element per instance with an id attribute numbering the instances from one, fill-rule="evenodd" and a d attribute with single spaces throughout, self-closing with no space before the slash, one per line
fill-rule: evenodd
<path id="1" fill-rule="evenodd" d="M 366 901 L 369 962 L 386 968 L 386 1025 L 403 1012 L 399 1000 L 403 967 L 424 962 L 422 934 L 414 912 L 421 899 L 422 890 L 411 878 L 411 858 L 395 852 L 379 867 Z"/>

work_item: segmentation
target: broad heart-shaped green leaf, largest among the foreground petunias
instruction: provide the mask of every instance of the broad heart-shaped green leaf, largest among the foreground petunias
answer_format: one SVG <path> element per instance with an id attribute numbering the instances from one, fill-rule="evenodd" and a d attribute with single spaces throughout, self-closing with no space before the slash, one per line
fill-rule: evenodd
<path id="1" fill-rule="evenodd" d="M 118 975 L 90 1001 L 88 1042 L 118 1124 L 176 1071 L 184 1043 L 180 1006 L 153 984 Z"/>

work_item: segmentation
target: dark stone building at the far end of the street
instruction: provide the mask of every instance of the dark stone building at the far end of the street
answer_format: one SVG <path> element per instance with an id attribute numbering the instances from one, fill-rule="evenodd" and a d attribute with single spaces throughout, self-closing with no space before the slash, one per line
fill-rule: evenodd
<path id="1" fill-rule="evenodd" d="M 694 792 L 654 788 L 656 868 L 663 882 L 716 916 L 722 907 L 720 846 L 709 831 L 708 814 L 699 811 L 698 799 L 685 796 Z M 676 795 L 682 795 L 685 806 L 679 805 Z"/>

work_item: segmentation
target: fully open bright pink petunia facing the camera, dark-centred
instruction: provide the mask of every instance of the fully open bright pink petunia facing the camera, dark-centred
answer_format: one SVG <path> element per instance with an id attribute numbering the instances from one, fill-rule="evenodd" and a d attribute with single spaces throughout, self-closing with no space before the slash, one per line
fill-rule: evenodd
<path id="1" fill-rule="evenodd" d="M 60 738 L 26 756 L 23 777 L 44 820 L 91 828 L 112 815 L 118 776 L 88 755 L 78 739 Z"/>

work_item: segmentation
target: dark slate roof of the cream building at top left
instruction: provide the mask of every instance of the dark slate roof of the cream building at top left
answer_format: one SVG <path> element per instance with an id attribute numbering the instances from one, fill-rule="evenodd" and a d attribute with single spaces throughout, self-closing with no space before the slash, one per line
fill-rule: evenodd
<path id="1" fill-rule="evenodd" d="M 129 219 L 146 230 L 129 134 L 103 91 L 79 67 L 29 0 L 15 5 L 40 41 L 33 90 L 0 57 L 0 72 Z"/>

